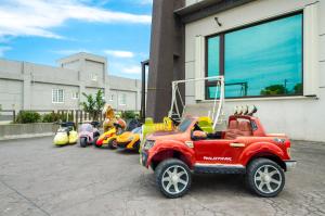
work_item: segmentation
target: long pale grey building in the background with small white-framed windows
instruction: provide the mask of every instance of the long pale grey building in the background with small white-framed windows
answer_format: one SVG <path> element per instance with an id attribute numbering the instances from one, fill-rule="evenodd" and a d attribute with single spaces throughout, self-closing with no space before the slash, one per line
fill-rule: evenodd
<path id="1" fill-rule="evenodd" d="M 57 63 L 52 67 L 0 60 L 1 110 L 78 110 L 82 92 L 100 89 L 114 109 L 140 110 L 141 81 L 108 76 L 106 58 L 82 52 Z"/>

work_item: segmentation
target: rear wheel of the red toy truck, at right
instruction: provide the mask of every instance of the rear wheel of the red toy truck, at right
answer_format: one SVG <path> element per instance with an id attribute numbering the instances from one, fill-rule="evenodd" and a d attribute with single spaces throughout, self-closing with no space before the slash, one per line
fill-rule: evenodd
<path id="1" fill-rule="evenodd" d="M 250 163 L 246 176 L 249 189 L 263 198 L 273 198 L 284 188 L 283 168 L 268 158 L 257 158 Z"/>

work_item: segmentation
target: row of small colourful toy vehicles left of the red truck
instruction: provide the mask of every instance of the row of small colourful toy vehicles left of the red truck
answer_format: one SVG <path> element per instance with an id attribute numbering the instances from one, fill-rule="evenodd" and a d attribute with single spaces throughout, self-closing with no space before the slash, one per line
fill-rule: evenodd
<path id="1" fill-rule="evenodd" d="M 109 105 L 105 105 L 103 110 L 105 120 L 103 123 L 104 132 L 101 135 L 99 130 L 99 122 L 86 122 L 79 126 L 79 132 L 73 122 L 61 123 L 54 136 L 55 145 L 75 144 L 78 142 L 80 147 L 95 145 L 98 148 L 108 147 L 109 149 L 132 149 L 139 150 L 140 134 L 142 131 L 141 123 L 135 118 L 128 124 L 115 115 Z"/>

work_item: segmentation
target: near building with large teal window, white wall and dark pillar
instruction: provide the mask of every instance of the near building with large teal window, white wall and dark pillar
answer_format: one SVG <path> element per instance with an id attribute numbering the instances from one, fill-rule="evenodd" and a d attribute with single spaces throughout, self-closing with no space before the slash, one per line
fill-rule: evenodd
<path id="1" fill-rule="evenodd" d="M 154 8 L 165 13 L 161 2 L 154 1 Z M 182 7 L 168 12 L 174 18 L 165 27 L 183 28 L 174 33 L 181 37 L 169 38 L 173 43 L 183 45 L 180 50 L 184 55 L 181 62 L 184 71 L 177 72 L 184 74 L 183 79 L 222 75 L 225 115 L 236 105 L 257 105 L 258 116 L 269 132 L 325 141 L 322 128 L 325 123 L 322 114 L 325 110 L 324 1 L 186 0 L 181 3 Z M 155 15 L 153 22 L 157 22 Z M 152 43 L 159 39 L 153 36 Z M 155 58 L 161 54 L 157 53 Z M 169 53 L 170 59 L 173 55 Z M 151 56 L 151 65 L 155 65 L 152 63 L 155 58 Z M 159 73 L 151 67 L 150 76 Z M 213 80 L 188 84 L 186 104 L 210 105 L 214 85 Z"/>

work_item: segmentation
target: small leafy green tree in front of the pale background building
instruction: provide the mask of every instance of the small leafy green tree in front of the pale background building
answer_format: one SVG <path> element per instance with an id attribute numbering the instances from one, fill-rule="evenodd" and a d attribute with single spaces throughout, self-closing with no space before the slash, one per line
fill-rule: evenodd
<path id="1" fill-rule="evenodd" d="M 93 119 L 98 120 L 99 115 L 105 105 L 105 100 L 103 99 L 103 90 L 99 90 L 94 97 L 84 92 L 82 92 L 82 96 L 86 98 L 86 101 L 80 103 L 82 110 L 89 113 Z"/>

